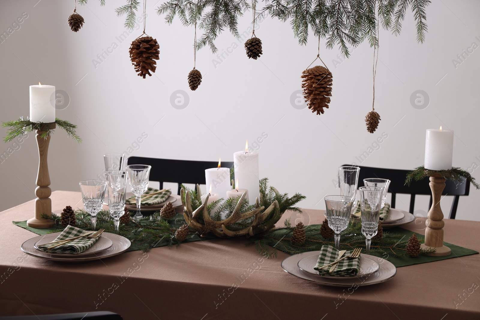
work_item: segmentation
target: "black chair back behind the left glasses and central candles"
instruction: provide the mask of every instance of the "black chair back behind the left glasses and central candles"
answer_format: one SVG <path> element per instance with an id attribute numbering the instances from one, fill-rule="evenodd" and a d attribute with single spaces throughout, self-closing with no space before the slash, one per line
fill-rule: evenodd
<path id="1" fill-rule="evenodd" d="M 205 184 L 205 169 L 216 168 L 218 162 L 129 157 L 127 165 L 152 166 L 150 181 L 160 182 L 160 189 L 163 189 L 164 182 L 176 182 L 179 184 L 177 194 L 180 194 L 182 183 Z M 233 162 L 222 161 L 221 165 L 231 168 Z"/>

